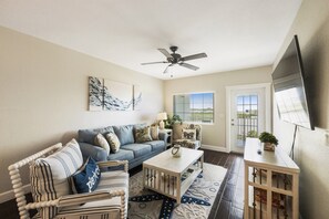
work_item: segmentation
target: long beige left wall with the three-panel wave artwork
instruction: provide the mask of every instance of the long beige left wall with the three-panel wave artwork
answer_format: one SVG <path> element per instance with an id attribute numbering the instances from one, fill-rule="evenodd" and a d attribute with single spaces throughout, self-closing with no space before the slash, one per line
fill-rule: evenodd
<path id="1" fill-rule="evenodd" d="M 140 84 L 142 109 L 89 112 L 90 75 Z M 11 189 L 10 164 L 66 143 L 79 128 L 153 122 L 163 111 L 163 81 L 0 28 L 0 100 L 1 200 Z"/>

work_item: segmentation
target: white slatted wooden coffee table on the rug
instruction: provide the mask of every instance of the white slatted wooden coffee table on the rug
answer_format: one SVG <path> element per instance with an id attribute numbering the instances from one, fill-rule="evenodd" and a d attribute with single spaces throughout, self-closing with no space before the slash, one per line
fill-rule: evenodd
<path id="1" fill-rule="evenodd" d="M 177 200 L 203 170 L 204 152 L 181 148 L 182 156 L 173 157 L 167 149 L 143 163 L 144 188 Z"/>

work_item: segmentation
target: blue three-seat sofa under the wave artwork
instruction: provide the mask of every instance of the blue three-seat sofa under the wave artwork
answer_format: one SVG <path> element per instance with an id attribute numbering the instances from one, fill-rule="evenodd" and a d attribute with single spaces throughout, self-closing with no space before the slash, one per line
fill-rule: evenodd
<path id="1" fill-rule="evenodd" d="M 84 159 L 92 157 L 96 161 L 128 160 L 128 168 L 131 169 L 141 165 L 144 160 L 164 152 L 166 149 L 166 133 L 160 133 L 158 140 L 135 143 L 134 129 L 141 126 L 145 125 L 121 125 L 96 129 L 80 129 L 78 132 L 78 142 Z M 121 143 L 119 152 L 115 154 L 110 153 L 110 155 L 107 155 L 105 149 L 94 144 L 94 138 L 99 133 L 104 135 L 109 132 L 114 132 Z"/>

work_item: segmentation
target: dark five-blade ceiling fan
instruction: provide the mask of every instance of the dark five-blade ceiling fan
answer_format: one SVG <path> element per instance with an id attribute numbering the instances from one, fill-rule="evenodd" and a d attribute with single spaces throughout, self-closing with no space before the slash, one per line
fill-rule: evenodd
<path id="1" fill-rule="evenodd" d="M 166 61 L 161 61 L 161 62 L 146 62 L 146 63 L 141 63 L 142 65 L 146 65 L 146 64 L 158 64 L 158 63 L 169 63 L 165 71 L 163 73 L 167 73 L 167 70 L 169 66 L 173 66 L 175 64 L 178 64 L 181 66 L 187 67 L 189 70 L 198 70 L 198 66 L 185 63 L 185 61 L 189 61 L 189 60 L 196 60 L 196 59 L 202 59 L 202 58 L 206 58 L 207 54 L 206 53 L 197 53 L 197 54 L 193 54 L 193 55 L 187 55 L 182 58 L 181 54 L 176 53 L 176 51 L 178 50 L 177 46 L 171 46 L 169 48 L 172 53 L 169 53 L 166 49 L 157 49 L 162 54 L 164 54 L 167 60 Z"/>

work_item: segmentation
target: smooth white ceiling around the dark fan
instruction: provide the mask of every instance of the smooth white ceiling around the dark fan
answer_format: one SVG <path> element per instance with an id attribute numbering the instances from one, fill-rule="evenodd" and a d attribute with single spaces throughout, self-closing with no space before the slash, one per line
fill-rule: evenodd
<path id="1" fill-rule="evenodd" d="M 301 0 L 0 0 L 0 25 L 160 79 L 273 64 Z M 178 46 L 198 71 L 167 64 Z"/>

